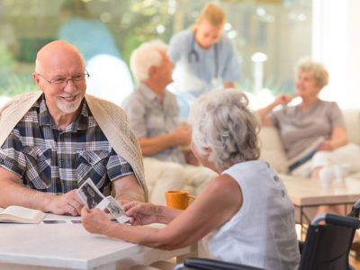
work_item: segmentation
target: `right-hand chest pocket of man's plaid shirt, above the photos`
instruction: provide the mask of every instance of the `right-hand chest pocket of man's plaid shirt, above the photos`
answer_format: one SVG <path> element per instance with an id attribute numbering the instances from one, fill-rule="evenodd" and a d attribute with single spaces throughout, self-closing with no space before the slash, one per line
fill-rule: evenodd
<path id="1" fill-rule="evenodd" d="M 77 183 L 91 178 L 94 184 L 104 181 L 110 152 L 104 150 L 77 152 Z"/>

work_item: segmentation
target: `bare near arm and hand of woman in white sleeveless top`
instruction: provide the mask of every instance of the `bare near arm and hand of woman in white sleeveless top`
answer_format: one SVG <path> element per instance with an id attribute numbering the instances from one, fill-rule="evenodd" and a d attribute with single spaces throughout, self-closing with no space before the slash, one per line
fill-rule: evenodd
<path id="1" fill-rule="evenodd" d="M 242 205 L 238 184 L 229 175 L 219 175 L 202 194 L 180 212 L 164 229 L 118 225 L 107 220 L 103 212 L 83 209 L 83 225 L 93 233 L 121 238 L 132 243 L 175 249 L 189 246 L 230 220 Z M 101 219 L 98 215 L 103 215 Z M 99 224 L 100 223 L 100 224 Z"/>

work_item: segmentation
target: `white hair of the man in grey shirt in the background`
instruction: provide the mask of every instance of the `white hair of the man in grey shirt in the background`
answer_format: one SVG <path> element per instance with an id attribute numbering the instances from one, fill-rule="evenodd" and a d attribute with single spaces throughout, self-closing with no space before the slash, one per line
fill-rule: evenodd
<path id="1" fill-rule="evenodd" d="M 162 60 L 160 51 L 166 52 L 166 48 L 166 44 L 161 40 L 142 43 L 130 56 L 130 68 L 133 76 L 140 82 L 147 80 L 148 69 L 160 65 Z"/>

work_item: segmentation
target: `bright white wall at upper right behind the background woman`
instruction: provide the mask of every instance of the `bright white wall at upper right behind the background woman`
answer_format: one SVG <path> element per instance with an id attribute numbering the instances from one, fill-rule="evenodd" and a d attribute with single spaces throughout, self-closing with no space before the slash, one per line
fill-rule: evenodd
<path id="1" fill-rule="evenodd" d="M 330 82 L 321 96 L 342 108 L 360 108 L 359 0 L 313 0 L 312 57 Z"/>

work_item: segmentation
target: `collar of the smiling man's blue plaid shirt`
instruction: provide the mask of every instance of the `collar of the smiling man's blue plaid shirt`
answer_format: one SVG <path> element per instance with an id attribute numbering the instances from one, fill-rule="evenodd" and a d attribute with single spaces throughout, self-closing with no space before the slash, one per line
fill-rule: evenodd
<path id="1" fill-rule="evenodd" d="M 89 112 L 85 98 L 80 104 L 81 112 L 76 117 L 76 120 L 73 121 L 70 125 L 67 126 L 64 131 L 76 132 L 76 130 L 88 130 L 89 128 Z M 58 125 L 52 120 L 52 117 L 49 114 L 48 106 L 45 102 L 44 94 L 40 96 L 40 116 L 39 116 L 39 125 L 40 126 L 51 126 L 52 129 L 59 130 Z"/>

